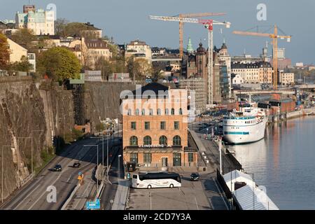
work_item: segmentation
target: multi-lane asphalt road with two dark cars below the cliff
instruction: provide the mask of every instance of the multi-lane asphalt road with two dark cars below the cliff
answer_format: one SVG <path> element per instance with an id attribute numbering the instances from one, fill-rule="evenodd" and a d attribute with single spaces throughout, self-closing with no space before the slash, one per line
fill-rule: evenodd
<path id="1" fill-rule="evenodd" d="M 102 141 L 99 139 L 84 139 L 77 141 L 58 155 L 43 171 L 25 188 L 15 192 L 1 209 L 14 210 L 57 210 L 62 207 L 73 188 L 78 183 L 78 172 L 83 174 L 97 165 L 97 147 L 99 145 L 99 163 L 102 162 Z M 104 146 L 106 154 L 106 145 Z M 80 161 L 80 168 L 73 168 L 73 162 Z M 106 160 L 104 161 L 106 162 Z M 55 165 L 62 165 L 62 172 L 52 172 Z M 93 172 L 92 172 L 93 173 Z M 56 202 L 48 202 L 51 197 L 51 187 L 57 192 Z M 48 190 L 50 188 L 50 190 Z"/>

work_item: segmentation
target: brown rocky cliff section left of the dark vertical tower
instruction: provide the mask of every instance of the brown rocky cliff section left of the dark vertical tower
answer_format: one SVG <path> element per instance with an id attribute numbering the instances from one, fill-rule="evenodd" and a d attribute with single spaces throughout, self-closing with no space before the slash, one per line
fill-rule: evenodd
<path id="1" fill-rule="evenodd" d="M 73 127 L 72 102 L 71 91 L 60 87 L 41 90 L 31 80 L 0 83 L 0 179 L 3 175 L 4 198 L 31 174 L 32 160 L 33 170 L 43 165 L 42 155 L 48 153 L 53 137 L 62 137 Z"/>

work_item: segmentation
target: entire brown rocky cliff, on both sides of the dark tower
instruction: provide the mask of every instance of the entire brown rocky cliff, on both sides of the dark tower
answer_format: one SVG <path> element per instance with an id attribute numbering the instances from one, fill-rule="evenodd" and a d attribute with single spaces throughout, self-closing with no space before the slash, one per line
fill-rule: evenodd
<path id="1" fill-rule="evenodd" d="M 120 92 L 134 88 L 130 83 L 85 83 L 80 105 L 84 120 L 92 121 L 94 127 L 100 119 L 120 118 Z M 27 179 L 32 167 L 36 170 L 43 165 L 42 155 L 48 153 L 54 138 L 69 134 L 75 124 L 74 102 L 72 90 L 47 80 L 34 83 L 27 78 L 0 78 L 0 180 L 3 174 L 4 198 Z M 0 181 L 0 195 L 1 190 Z"/>

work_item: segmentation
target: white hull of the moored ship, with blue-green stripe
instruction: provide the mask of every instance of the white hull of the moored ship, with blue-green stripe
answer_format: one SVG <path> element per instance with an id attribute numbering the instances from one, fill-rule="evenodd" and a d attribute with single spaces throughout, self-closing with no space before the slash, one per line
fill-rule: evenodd
<path id="1" fill-rule="evenodd" d="M 258 120 L 253 118 L 252 123 L 244 124 L 242 121 L 227 122 L 223 125 L 223 139 L 229 144 L 248 144 L 265 138 L 267 118 Z"/>

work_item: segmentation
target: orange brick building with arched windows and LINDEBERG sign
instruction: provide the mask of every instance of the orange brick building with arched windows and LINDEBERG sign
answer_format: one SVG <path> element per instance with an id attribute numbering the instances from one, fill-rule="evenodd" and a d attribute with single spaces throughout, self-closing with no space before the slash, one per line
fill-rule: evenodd
<path id="1" fill-rule="evenodd" d="M 150 83 L 122 97 L 124 163 L 196 167 L 188 147 L 188 91 Z"/>

